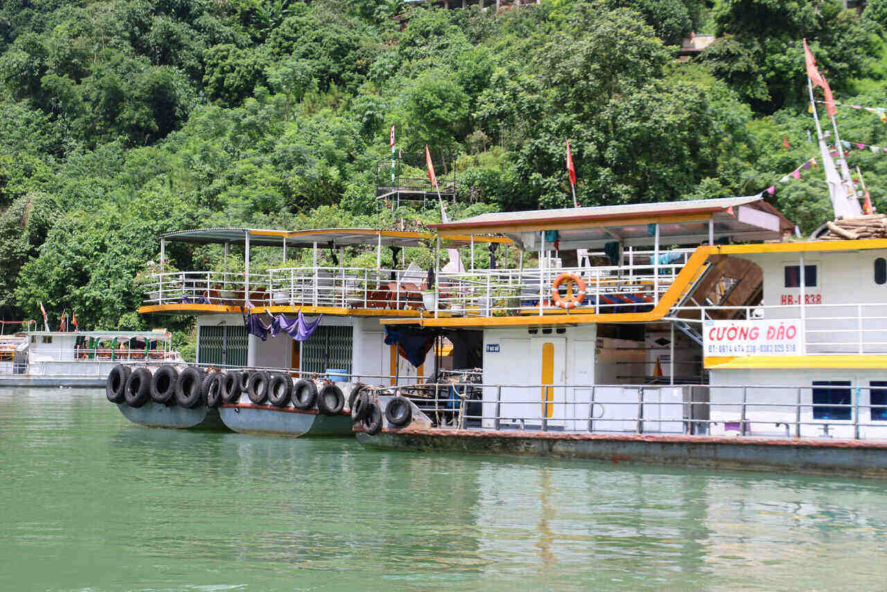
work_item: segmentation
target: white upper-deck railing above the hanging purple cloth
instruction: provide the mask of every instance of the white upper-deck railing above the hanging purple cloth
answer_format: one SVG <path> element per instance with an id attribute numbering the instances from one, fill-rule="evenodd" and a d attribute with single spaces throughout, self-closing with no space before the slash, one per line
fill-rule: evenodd
<path id="1" fill-rule="evenodd" d="M 244 304 L 243 273 L 157 273 L 145 283 L 145 304 Z M 418 309 L 424 273 L 357 267 L 285 267 L 249 274 L 255 306 L 341 306 Z"/>

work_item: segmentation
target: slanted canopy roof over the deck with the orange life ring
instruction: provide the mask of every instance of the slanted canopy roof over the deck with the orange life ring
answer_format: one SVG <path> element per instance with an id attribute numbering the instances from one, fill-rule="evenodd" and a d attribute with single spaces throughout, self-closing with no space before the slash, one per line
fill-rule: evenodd
<path id="1" fill-rule="evenodd" d="M 538 249 L 541 231 L 558 231 L 560 249 L 600 249 L 611 241 L 643 246 L 699 244 L 714 239 L 777 240 L 794 225 L 758 195 L 714 200 L 665 201 L 593 208 L 537 209 L 481 214 L 431 225 L 441 236 L 503 233 L 522 249 Z"/>

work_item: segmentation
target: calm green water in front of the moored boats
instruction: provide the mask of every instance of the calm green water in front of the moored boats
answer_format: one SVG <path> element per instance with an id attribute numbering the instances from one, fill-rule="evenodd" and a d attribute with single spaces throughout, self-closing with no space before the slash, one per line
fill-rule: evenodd
<path id="1" fill-rule="evenodd" d="M 884 481 L 366 451 L 0 391 L 0 590 L 884 589 Z"/>

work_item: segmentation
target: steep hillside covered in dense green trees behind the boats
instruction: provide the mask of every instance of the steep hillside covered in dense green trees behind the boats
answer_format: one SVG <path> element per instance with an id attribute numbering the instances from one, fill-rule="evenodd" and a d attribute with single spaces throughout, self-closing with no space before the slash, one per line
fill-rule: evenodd
<path id="1" fill-rule="evenodd" d="M 447 155 L 454 216 L 569 205 L 569 138 L 583 205 L 775 186 L 768 199 L 809 231 L 830 211 L 821 170 L 780 182 L 818 156 L 803 37 L 836 100 L 873 107 L 838 107 L 842 137 L 887 146 L 887 0 L 506 8 L 4 0 L 4 318 L 39 318 L 42 301 L 82 327 L 144 327 L 134 282 L 162 232 L 439 218 L 380 209 L 373 173 L 392 124 L 404 153 Z M 694 30 L 717 41 L 680 63 Z M 885 153 L 850 150 L 882 209 Z M 171 257 L 184 269 L 218 255 Z"/>

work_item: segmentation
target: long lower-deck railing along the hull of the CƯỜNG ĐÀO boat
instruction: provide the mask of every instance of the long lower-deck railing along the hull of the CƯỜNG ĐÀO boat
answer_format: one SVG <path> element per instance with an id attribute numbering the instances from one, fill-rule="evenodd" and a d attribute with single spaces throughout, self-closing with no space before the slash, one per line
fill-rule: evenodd
<path id="1" fill-rule="evenodd" d="M 887 383 L 885 383 L 887 384 Z M 437 427 L 767 438 L 887 439 L 887 386 L 444 383 L 378 391 Z"/>

